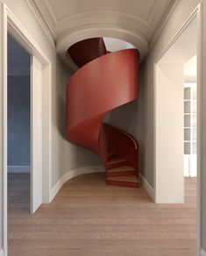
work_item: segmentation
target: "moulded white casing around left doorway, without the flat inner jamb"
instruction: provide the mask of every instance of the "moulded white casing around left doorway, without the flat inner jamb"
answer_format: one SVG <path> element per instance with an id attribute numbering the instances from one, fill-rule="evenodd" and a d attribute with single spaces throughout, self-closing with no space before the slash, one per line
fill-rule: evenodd
<path id="1" fill-rule="evenodd" d="M 41 119 L 40 127 L 40 141 L 42 145 L 42 203 L 50 202 L 51 194 L 51 138 L 52 138 L 52 65 L 51 61 L 47 58 L 46 54 L 42 51 L 40 46 L 32 39 L 31 35 L 20 24 L 17 18 L 12 14 L 6 4 L 1 4 L 1 51 L 3 53 L 0 70 L 0 86 L 2 91 L 2 116 L 3 123 L 0 127 L 0 144 L 2 144 L 2 150 L 0 149 L 0 160 L 2 160 L 2 196 L 3 196 L 3 249 L 4 255 L 8 254 L 7 246 L 7 32 L 18 40 L 18 42 L 25 48 L 25 50 L 31 54 L 31 57 L 36 58 L 42 64 L 42 87 L 39 91 L 39 96 L 44 99 L 40 105 L 42 110 L 39 118 Z M 32 103 L 32 83 L 31 83 L 31 103 Z M 31 115 L 31 131 L 35 129 L 35 124 Z M 32 140 L 31 140 L 31 152 L 32 152 Z M 32 159 L 31 159 L 32 161 Z M 32 164 L 31 164 L 32 166 Z M 32 176 L 32 175 L 31 175 Z M 31 184 L 32 185 L 32 184 Z"/>

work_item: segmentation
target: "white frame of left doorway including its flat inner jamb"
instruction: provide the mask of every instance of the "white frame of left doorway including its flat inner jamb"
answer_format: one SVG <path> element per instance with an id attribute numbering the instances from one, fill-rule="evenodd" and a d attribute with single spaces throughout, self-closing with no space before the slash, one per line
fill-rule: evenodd
<path id="1" fill-rule="evenodd" d="M 25 28 L 13 16 L 5 4 L 2 4 L 3 22 L 1 23 L 2 32 L 2 113 L 3 130 L 1 130 L 2 143 L 2 167 L 3 167 L 3 248 L 4 254 L 8 253 L 8 67 L 7 67 L 7 42 L 8 33 L 22 46 L 31 58 L 31 205 L 30 211 L 34 213 L 38 210 L 41 203 L 49 203 L 51 200 L 51 61 L 42 52 L 39 45 L 26 32 Z M 43 186 L 44 184 L 44 186 Z"/>

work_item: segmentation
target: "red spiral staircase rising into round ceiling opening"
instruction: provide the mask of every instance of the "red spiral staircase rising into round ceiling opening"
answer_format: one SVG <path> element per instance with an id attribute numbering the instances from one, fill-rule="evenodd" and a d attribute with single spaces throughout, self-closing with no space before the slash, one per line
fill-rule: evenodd
<path id="1" fill-rule="evenodd" d="M 138 97 L 139 53 L 109 53 L 102 38 L 68 49 L 79 69 L 67 84 L 67 139 L 98 153 L 108 185 L 139 188 L 139 145 L 130 134 L 103 123 L 106 113 Z"/>

